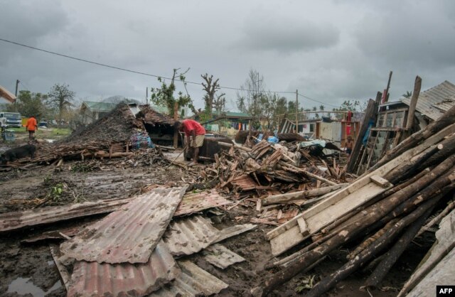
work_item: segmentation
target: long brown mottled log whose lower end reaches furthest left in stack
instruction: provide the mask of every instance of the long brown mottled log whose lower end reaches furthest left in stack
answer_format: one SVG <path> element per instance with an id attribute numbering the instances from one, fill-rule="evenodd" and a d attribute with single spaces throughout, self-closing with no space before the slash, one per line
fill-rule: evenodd
<path id="1" fill-rule="evenodd" d="M 319 247 L 316 247 L 315 249 L 303 254 L 301 257 L 293 259 L 292 263 L 289 264 L 286 269 L 279 271 L 277 274 L 265 281 L 263 288 L 256 288 L 255 293 L 259 294 L 259 292 L 261 292 L 260 294 L 262 294 L 262 296 L 265 296 L 277 286 L 283 284 L 286 281 L 289 281 L 289 279 L 291 279 L 293 276 L 299 274 L 304 266 L 313 264 L 324 255 L 333 251 L 333 249 L 336 249 L 341 246 L 341 244 L 348 242 L 350 239 L 353 239 L 355 236 L 360 234 L 360 232 L 363 232 L 363 230 L 368 228 L 370 225 L 373 225 L 375 222 L 387 215 L 387 213 L 394 210 L 395 207 L 400 205 L 401 202 L 405 201 L 411 195 L 417 193 L 419 189 L 424 188 L 441 174 L 449 171 L 449 169 L 451 169 L 451 173 L 454 174 L 450 175 L 450 178 L 455 178 L 455 168 L 453 168 L 454 163 L 455 156 L 451 156 L 451 158 L 446 159 L 444 162 L 439 164 L 439 166 L 434 168 L 431 173 L 424 175 L 416 183 L 407 186 L 397 193 L 390 195 L 384 200 L 376 203 L 375 205 L 372 205 L 367 210 L 360 212 L 358 215 L 355 215 L 348 221 L 350 224 L 341 228 L 339 232 L 337 232 L 335 235 L 333 235 L 333 237 L 328 239 Z M 432 189 L 434 191 L 437 190 L 433 187 Z M 422 198 L 422 201 L 424 201 L 431 197 L 433 194 L 434 193 L 431 191 L 427 191 L 427 195 L 429 196 L 420 196 Z M 398 215 L 400 214 L 395 214 L 395 217 Z"/>

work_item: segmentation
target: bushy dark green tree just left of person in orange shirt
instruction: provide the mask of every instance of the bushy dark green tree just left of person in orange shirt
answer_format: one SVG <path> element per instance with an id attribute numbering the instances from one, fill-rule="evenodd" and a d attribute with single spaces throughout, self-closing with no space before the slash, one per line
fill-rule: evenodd
<path id="1" fill-rule="evenodd" d="M 30 91 L 19 91 L 16 109 L 23 117 L 45 118 L 48 116 L 49 109 L 45 106 L 48 96 L 41 93 L 32 93 Z M 9 104 L 9 112 L 14 112 L 14 104 Z"/>

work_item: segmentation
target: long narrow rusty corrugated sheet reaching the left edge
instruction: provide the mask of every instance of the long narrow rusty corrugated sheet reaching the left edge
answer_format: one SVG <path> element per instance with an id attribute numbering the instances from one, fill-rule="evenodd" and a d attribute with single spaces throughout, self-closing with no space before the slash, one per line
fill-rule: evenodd
<path id="1" fill-rule="evenodd" d="M 112 212 L 132 200 L 133 198 L 107 199 L 73 205 L 43 207 L 21 212 L 6 212 L 0 215 L 0 232 Z"/>

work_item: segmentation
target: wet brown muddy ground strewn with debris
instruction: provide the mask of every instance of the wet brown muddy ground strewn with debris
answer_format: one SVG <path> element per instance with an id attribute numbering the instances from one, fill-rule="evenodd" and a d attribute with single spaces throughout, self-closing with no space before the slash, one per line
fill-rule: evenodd
<path id="1" fill-rule="evenodd" d="M 124 198 L 140 193 L 146 185 L 182 185 L 188 180 L 194 180 L 193 173 L 188 174 L 178 166 L 165 169 L 161 165 L 136 167 L 133 165 L 122 163 L 121 160 L 86 160 L 64 163 L 59 168 L 43 166 L 30 171 L 0 172 L 0 212 L 106 198 Z M 55 187 L 62 188 L 63 193 L 55 195 L 53 193 Z M 45 202 L 41 204 L 43 200 Z M 231 225 L 248 223 L 257 213 L 255 205 L 239 205 L 230 211 L 220 210 L 220 215 L 214 215 L 212 212 L 205 212 L 205 215 L 212 219 L 215 227 L 223 229 Z M 65 296 L 65 288 L 60 282 L 58 270 L 49 252 L 49 241 L 25 244 L 21 243 L 21 240 L 48 230 L 82 227 L 100 220 L 101 217 L 102 215 L 0 234 L 0 296 Z M 265 233 L 272 228 L 259 224 L 250 232 L 222 242 L 225 247 L 247 260 L 225 270 L 215 268 L 200 254 L 192 255 L 188 259 L 229 284 L 219 296 L 250 296 L 250 289 L 271 275 L 271 272 L 264 271 L 263 268 L 272 259 L 269 242 L 265 239 Z M 431 246 L 432 240 L 431 236 L 427 236 L 411 244 L 410 250 L 397 262 L 385 279 L 384 290 L 370 293 L 375 297 L 396 296 L 397 291 Z M 350 247 L 346 247 L 333 252 L 316 268 L 277 288 L 272 296 L 302 296 L 306 292 L 305 281 L 314 278 L 317 282 L 342 266 L 349 249 Z M 368 271 L 353 274 L 325 296 L 370 296 L 367 292 L 359 291 L 367 277 Z M 299 288 L 300 293 L 297 292 Z"/>

